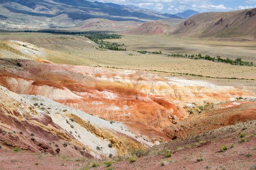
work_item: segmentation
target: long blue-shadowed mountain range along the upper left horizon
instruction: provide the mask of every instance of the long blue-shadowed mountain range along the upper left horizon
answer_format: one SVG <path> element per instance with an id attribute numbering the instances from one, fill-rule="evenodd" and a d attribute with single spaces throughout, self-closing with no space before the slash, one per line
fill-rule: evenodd
<path id="1" fill-rule="evenodd" d="M 0 0 L 0 29 L 70 28 L 92 18 L 146 22 L 184 16 L 86 0 Z"/>

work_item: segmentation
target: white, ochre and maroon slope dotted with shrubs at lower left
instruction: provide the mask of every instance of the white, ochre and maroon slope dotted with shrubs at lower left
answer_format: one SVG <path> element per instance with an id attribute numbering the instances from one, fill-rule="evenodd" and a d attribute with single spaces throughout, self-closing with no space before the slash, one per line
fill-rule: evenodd
<path id="1" fill-rule="evenodd" d="M 2 148 L 106 159 L 153 145 L 121 122 L 110 123 L 40 95 L 18 95 L 3 86 L 0 118 Z"/>

